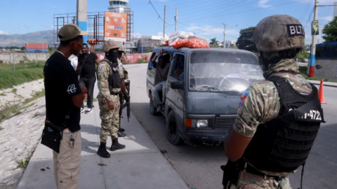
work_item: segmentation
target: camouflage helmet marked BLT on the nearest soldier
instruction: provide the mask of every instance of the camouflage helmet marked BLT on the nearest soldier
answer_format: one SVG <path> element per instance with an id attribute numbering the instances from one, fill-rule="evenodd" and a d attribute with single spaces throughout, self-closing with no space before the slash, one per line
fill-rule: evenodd
<path id="1" fill-rule="evenodd" d="M 251 41 L 262 52 L 304 48 L 305 32 L 300 22 L 289 15 L 272 15 L 256 26 Z"/>

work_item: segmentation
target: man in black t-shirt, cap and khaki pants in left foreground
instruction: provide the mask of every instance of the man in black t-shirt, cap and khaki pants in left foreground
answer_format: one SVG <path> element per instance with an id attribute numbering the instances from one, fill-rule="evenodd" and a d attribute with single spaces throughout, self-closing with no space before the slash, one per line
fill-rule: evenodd
<path id="1" fill-rule="evenodd" d="M 81 165 L 81 119 L 86 87 L 79 86 L 77 74 L 72 67 L 70 55 L 81 50 L 83 35 L 77 25 L 65 25 L 58 32 L 60 46 L 44 66 L 44 87 L 46 90 L 46 120 L 62 125 L 69 116 L 60 141 L 60 152 L 53 151 L 54 176 L 58 189 L 78 188 Z M 69 115 L 68 115 L 69 114 Z M 72 140 L 73 139 L 73 140 Z M 70 141 L 73 145 L 70 145 Z"/>

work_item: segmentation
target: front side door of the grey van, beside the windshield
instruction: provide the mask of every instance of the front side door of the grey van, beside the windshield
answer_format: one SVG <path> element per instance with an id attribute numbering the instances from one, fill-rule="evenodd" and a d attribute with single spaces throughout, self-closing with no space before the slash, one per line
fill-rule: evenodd
<path id="1" fill-rule="evenodd" d="M 185 90 L 173 90 L 171 88 L 171 83 L 174 81 L 184 82 L 185 67 L 185 54 L 183 52 L 175 52 L 173 54 L 173 59 L 171 60 L 169 77 L 167 78 L 166 104 L 168 105 L 168 108 L 171 107 L 176 111 L 177 123 L 183 122 Z"/>

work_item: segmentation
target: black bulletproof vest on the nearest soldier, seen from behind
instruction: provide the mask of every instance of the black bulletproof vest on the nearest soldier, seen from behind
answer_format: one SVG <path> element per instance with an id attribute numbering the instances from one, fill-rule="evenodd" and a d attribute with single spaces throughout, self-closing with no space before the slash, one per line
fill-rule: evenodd
<path id="1" fill-rule="evenodd" d="M 317 88 L 311 94 L 300 94 L 288 80 L 278 76 L 267 78 L 275 83 L 280 97 L 277 118 L 258 125 L 243 157 L 256 169 L 267 172 L 292 172 L 307 160 L 325 123 Z"/>

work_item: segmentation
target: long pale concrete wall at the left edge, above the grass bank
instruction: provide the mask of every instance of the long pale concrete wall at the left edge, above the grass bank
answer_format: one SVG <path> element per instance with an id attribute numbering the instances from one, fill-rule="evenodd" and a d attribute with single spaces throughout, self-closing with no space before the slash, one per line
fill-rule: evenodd
<path id="1" fill-rule="evenodd" d="M 46 61 L 49 57 L 48 53 L 25 53 L 25 52 L 14 52 L 14 57 L 13 57 L 13 52 L 1 52 L 0 53 L 0 64 L 19 64 L 23 63 L 25 61 L 25 57 L 27 57 L 26 60 L 30 61 Z"/>

